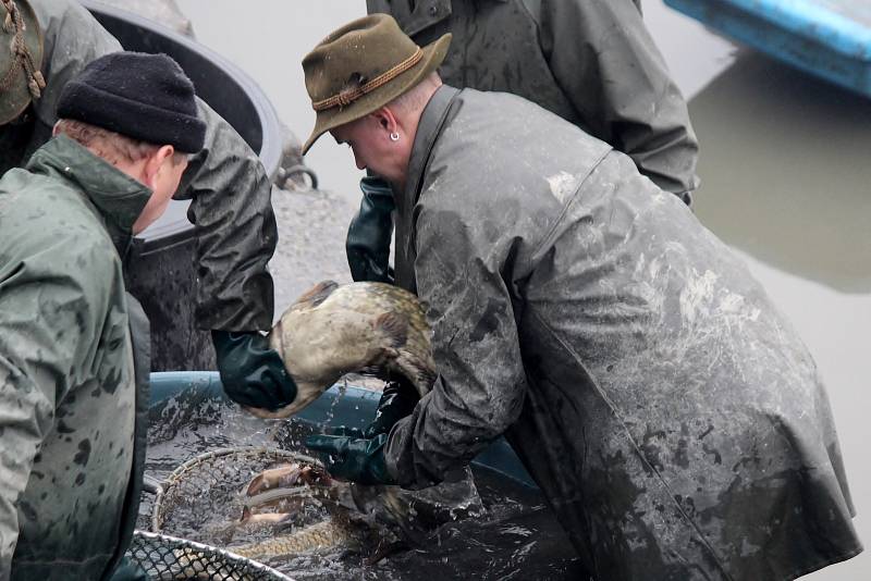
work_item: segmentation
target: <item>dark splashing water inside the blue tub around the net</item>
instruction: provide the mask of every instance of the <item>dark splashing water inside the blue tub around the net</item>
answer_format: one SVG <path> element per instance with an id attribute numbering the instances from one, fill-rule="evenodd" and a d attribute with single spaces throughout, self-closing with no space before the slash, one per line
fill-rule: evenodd
<path id="1" fill-rule="evenodd" d="M 183 461 L 203 453 L 237 446 L 298 448 L 312 430 L 295 422 L 263 422 L 236 407 L 216 403 L 193 408 L 171 405 L 154 416 L 152 425 L 146 472 L 161 481 Z M 172 503 L 172 510 L 163 511 L 164 533 L 232 549 L 241 543 L 289 532 L 231 527 L 241 514 L 240 483 L 269 462 L 242 465 L 228 458 L 204 465 L 208 471 L 191 467 L 180 481 L 186 494 L 177 503 L 171 494 L 164 497 L 164 503 Z M 409 520 L 405 524 L 416 527 L 414 535 L 358 522 L 352 529 L 353 542 L 265 563 L 294 579 L 312 581 L 420 576 L 456 579 L 471 571 L 482 579 L 578 578 L 574 551 L 537 491 L 486 469 L 476 469 L 475 481 L 484 506 L 483 515 L 475 519 L 461 518 L 426 529 L 419 519 Z M 154 499 L 145 495 L 144 500 L 139 527 L 148 528 Z M 304 507 L 299 526 L 329 519 L 333 514 L 323 503 L 306 503 Z M 397 539 L 402 541 L 398 544 Z M 370 563 L 373 555 L 381 554 L 387 556 Z"/>

